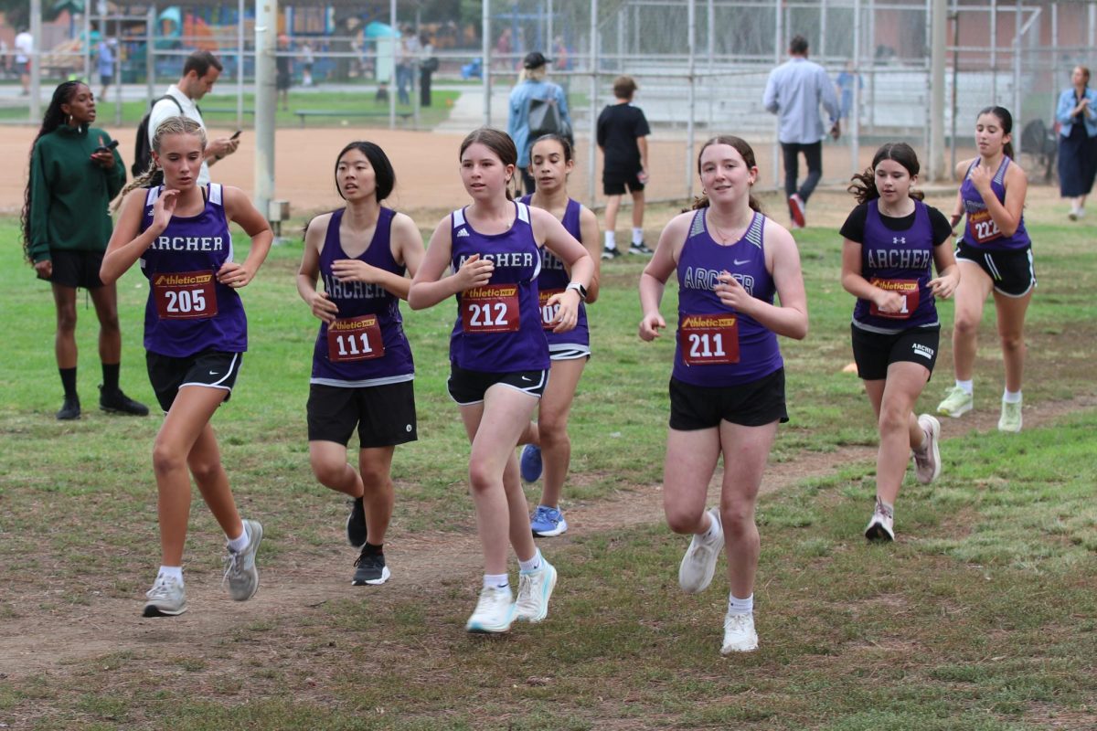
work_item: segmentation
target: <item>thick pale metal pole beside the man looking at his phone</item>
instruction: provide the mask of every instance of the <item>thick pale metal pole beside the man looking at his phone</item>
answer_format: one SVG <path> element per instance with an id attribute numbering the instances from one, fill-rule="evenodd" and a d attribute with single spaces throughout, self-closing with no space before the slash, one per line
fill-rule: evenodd
<path id="1" fill-rule="evenodd" d="M 278 0 L 256 2 L 256 207 L 270 217 L 274 197 L 274 54 Z"/>

